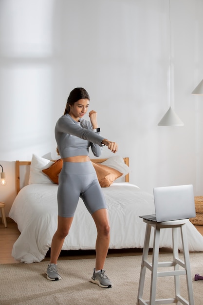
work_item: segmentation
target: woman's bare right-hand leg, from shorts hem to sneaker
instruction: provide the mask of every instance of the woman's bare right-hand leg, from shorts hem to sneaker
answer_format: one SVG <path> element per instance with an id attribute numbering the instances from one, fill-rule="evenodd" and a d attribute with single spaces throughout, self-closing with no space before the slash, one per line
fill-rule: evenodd
<path id="1" fill-rule="evenodd" d="M 101 270 L 107 257 L 110 243 L 110 224 L 107 209 L 97 210 L 92 214 L 97 229 L 96 270 Z"/>

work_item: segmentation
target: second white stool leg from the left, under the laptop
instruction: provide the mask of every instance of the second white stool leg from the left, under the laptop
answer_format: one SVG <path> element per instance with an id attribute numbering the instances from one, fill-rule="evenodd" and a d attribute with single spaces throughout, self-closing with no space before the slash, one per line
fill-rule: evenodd
<path id="1" fill-rule="evenodd" d="M 155 226 L 154 228 L 154 244 L 152 254 L 152 272 L 151 272 L 151 288 L 150 288 L 150 299 L 149 304 L 156 304 L 156 283 L 157 283 L 157 271 L 159 261 L 159 239 L 160 239 L 160 228 Z"/>

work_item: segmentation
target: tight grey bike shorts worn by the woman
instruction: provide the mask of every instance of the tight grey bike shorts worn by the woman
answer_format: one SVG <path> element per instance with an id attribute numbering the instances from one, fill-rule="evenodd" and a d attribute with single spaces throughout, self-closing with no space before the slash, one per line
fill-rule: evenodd
<path id="1" fill-rule="evenodd" d="M 58 215 L 73 217 L 79 197 L 91 214 L 107 209 L 92 162 L 63 162 L 58 177 Z"/>

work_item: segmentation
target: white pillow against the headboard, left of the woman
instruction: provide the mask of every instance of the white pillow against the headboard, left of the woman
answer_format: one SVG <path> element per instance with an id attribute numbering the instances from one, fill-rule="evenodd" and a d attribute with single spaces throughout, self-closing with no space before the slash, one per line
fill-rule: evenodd
<path id="1" fill-rule="evenodd" d="M 42 172 L 42 170 L 48 169 L 52 164 L 54 164 L 53 161 L 38 157 L 33 153 L 28 184 L 53 183 L 53 181 Z"/>

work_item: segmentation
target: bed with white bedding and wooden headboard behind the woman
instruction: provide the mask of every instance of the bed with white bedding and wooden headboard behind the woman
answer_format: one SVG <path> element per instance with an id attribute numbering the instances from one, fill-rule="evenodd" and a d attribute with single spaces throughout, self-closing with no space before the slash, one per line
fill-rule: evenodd
<path id="1" fill-rule="evenodd" d="M 17 196 L 9 217 L 18 224 L 20 231 L 12 250 L 12 256 L 20 262 L 40 262 L 51 247 L 57 226 L 58 185 L 42 171 L 49 171 L 58 161 L 36 155 L 33 155 L 32 161 L 16 161 Z M 107 171 L 111 168 L 120 172 L 120 175 L 117 173 L 111 177 L 110 186 L 102 187 L 109 209 L 110 249 L 143 248 L 146 224 L 139 215 L 154 213 L 153 196 L 129 183 L 129 158 L 116 156 L 93 159 L 92 162 L 102 167 L 102 171 L 104 167 Z M 21 168 L 28 169 L 22 174 Z M 22 175 L 27 178 L 22 178 Z M 203 251 L 203 236 L 191 222 L 187 223 L 187 237 L 189 251 Z M 171 230 L 163 229 L 160 239 L 160 248 L 172 247 Z M 62 250 L 95 249 L 95 240 L 96 229 L 92 216 L 79 199 L 74 221 Z M 152 245 L 151 239 L 150 248 Z M 179 248 L 182 249 L 181 236 Z"/>

